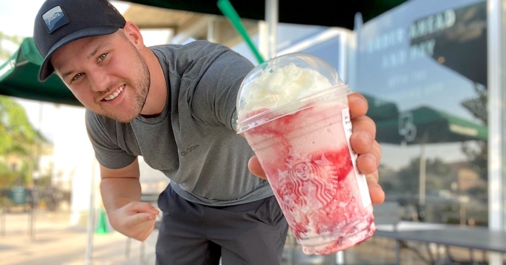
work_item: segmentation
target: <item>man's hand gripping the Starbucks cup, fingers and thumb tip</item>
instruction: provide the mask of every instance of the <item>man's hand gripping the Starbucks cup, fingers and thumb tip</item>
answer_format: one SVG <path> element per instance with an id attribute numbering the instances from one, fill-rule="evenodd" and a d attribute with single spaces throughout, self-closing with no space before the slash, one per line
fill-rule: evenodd
<path id="1" fill-rule="evenodd" d="M 359 93 L 352 93 L 348 95 L 348 103 L 353 126 L 350 143 L 353 150 L 358 154 L 357 168 L 367 178 L 372 203 L 382 203 L 385 200 L 385 193 L 378 184 L 377 168 L 381 159 L 381 147 L 374 140 L 376 126 L 369 117 L 365 116 L 368 105 L 364 96 Z M 249 160 L 248 168 L 255 176 L 267 179 L 256 155 Z"/>

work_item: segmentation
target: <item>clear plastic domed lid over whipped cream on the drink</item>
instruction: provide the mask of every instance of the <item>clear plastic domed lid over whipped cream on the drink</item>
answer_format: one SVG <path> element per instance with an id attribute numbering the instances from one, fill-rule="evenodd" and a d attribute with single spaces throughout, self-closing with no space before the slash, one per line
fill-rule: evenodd
<path id="1" fill-rule="evenodd" d="M 237 94 L 237 133 L 296 112 L 312 95 L 348 86 L 323 59 L 302 52 L 268 60 L 252 69 Z"/>

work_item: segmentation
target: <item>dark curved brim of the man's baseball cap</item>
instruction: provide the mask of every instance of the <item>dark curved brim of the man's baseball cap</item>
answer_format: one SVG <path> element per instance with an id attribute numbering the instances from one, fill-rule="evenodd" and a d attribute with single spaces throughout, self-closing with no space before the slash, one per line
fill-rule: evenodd
<path id="1" fill-rule="evenodd" d="M 57 50 L 59 50 L 61 47 L 65 46 L 66 44 L 68 44 L 74 40 L 87 38 L 87 37 L 109 35 L 109 34 L 116 32 L 118 29 L 119 28 L 116 26 L 100 27 L 100 28 L 87 28 L 87 29 L 73 32 L 72 34 L 69 34 L 69 35 L 63 37 L 58 42 L 56 42 L 53 45 L 53 47 L 51 47 L 48 54 L 46 55 L 46 58 L 44 58 L 44 61 L 42 62 L 42 65 L 40 66 L 40 70 L 38 72 L 38 79 L 40 81 L 44 81 L 55 71 L 53 65 L 51 64 L 51 56 Z"/>

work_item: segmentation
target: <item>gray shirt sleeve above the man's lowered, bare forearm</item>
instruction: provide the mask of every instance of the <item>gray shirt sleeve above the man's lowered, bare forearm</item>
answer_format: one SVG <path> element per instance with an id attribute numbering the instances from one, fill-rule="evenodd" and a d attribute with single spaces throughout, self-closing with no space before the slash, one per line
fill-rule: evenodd
<path id="1" fill-rule="evenodd" d="M 103 121 L 90 110 L 86 110 L 86 130 L 100 165 L 109 169 L 121 169 L 136 159 L 136 155 L 119 147 L 114 121 Z"/>

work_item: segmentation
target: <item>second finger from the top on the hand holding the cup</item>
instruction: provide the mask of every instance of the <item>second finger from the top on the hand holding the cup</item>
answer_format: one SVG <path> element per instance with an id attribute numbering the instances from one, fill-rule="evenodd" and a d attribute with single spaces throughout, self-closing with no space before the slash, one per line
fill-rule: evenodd
<path id="1" fill-rule="evenodd" d="M 376 126 L 374 121 L 367 116 L 361 116 L 352 120 L 353 133 L 350 144 L 353 150 L 359 154 L 369 151 L 374 138 L 376 138 Z"/>

